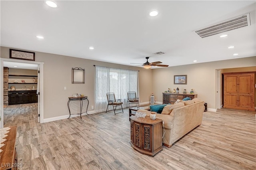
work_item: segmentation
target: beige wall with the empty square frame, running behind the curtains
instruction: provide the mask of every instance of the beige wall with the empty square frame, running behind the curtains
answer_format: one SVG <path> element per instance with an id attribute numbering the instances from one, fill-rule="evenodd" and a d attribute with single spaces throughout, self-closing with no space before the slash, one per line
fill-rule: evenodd
<path id="1" fill-rule="evenodd" d="M 21 50 L 30 51 L 26 49 Z M 83 93 L 88 96 L 90 102 L 88 111 L 92 111 L 91 106 L 94 106 L 95 82 L 95 67 L 93 65 L 139 70 L 140 101 L 149 101 L 150 94 L 152 93 L 151 69 L 146 70 L 140 67 L 129 68 L 130 66 L 127 65 L 36 51 L 32 52 L 35 52 L 36 61 L 44 62 L 44 119 L 68 115 L 68 97 L 72 96 L 74 93 Z M 9 58 L 9 47 L 1 47 L 0 57 Z M 72 67 L 85 69 L 85 84 L 71 83 Z M 67 87 L 67 90 L 64 90 L 64 87 Z"/>

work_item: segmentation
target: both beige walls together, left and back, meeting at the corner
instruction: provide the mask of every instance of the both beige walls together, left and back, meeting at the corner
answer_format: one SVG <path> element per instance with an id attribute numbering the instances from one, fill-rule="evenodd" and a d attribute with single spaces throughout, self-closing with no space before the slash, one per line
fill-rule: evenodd
<path id="1" fill-rule="evenodd" d="M 9 58 L 9 47 L 1 47 L 0 57 Z M 190 89 L 194 89 L 198 97 L 208 103 L 208 108 L 212 109 L 216 109 L 216 69 L 256 66 L 256 57 L 159 69 L 129 68 L 130 66 L 127 65 L 42 52 L 36 52 L 35 59 L 44 62 L 44 119 L 68 115 L 68 97 L 74 93 L 84 93 L 88 96 L 90 101 L 88 111 L 92 111 L 95 81 L 95 67 L 93 65 L 139 70 L 140 102 L 150 101 L 151 93 L 154 93 L 156 101 L 162 102 L 162 92 L 167 91 L 168 88 L 176 89 L 179 87 L 181 93 L 184 89 L 187 89 L 188 92 Z M 72 67 L 85 69 L 85 84 L 71 83 Z M 187 84 L 174 85 L 174 75 L 187 75 Z M 64 87 L 67 87 L 67 90 L 64 90 Z"/>

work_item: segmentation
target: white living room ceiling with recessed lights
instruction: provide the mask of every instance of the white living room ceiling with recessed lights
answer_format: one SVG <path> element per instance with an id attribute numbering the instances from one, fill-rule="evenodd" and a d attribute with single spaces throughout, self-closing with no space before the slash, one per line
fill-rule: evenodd
<path id="1" fill-rule="evenodd" d="M 169 66 L 234 59 L 234 53 L 256 56 L 255 0 L 55 2 L 57 8 L 45 1 L 0 1 L 1 46 L 131 66 L 147 56 Z M 150 17 L 152 10 L 158 16 Z M 247 13 L 251 26 L 226 38 L 194 32 Z M 158 51 L 165 54 L 153 54 Z"/>

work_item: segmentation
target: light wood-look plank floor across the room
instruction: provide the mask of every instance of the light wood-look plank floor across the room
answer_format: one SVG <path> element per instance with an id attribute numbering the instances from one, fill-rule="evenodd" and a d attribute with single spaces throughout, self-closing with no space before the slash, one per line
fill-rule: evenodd
<path id="1" fill-rule="evenodd" d="M 154 157 L 130 146 L 128 109 L 37 123 L 37 105 L 4 108 L 4 127 L 17 125 L 22 170 L 256 169 L 255 112 L 204 112 L 202 125 Z"/>

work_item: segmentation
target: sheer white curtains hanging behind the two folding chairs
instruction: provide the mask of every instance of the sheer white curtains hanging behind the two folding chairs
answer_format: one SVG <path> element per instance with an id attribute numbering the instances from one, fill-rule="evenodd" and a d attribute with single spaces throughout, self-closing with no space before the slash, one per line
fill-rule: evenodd
<path id="1" fill-rule="evenodd" d="M 122 99 L 126 107 L 127 92 L 136 91 L 138 94 L 138 71 L 95 66 L 95 110 L 106 111 L 106 93 L 115 93 L 116 99 Z"/>

